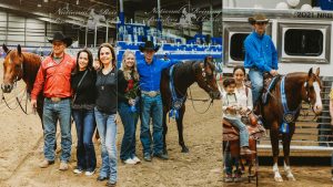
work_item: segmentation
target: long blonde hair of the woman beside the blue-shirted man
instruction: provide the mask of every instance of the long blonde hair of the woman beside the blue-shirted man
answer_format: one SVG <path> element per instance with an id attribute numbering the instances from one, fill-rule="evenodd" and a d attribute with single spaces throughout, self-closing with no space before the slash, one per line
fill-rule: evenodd
<path id="1" fill-rule="evenodd" d="M 132 67 L 129 67 L 125 63 L 127 58 L 132 54 L 134 58 L 134 63 Z M 120 70 L 122 70 L 123 72 L 123 76 L 127 81 L 129 81 L 131 79 L 131 73 L 133 73 L 133 80 L 139 81 L 139 73 L 138 73 L 138 67 L 137 67 L 137 60 L 135 60 L 135 54 L 130 51 L 127 50 L 123 55 L 122 55 L 122 61 L 121 61 L 121 67 Z"/>

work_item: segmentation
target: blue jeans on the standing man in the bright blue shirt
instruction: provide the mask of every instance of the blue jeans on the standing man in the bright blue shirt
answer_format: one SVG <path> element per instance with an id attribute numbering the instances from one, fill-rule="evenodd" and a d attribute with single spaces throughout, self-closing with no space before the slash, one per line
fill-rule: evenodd
<path id="1" fill-rule="evenodd" d="M 163 104 L 161 95 L 150 97 L 141 94 L 141 132 L 140 139 L 143 147 L 143 155 L 151 155 L 151 141 L 153 142 L 153 153 L 163 152 Z M 152 118 L 153 133 L 151 138 L 150 118 Z"/>

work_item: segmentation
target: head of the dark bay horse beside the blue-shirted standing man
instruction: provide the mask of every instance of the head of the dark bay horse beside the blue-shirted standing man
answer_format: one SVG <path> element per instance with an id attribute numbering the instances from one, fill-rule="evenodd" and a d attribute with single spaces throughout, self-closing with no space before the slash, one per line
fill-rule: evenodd
<path id="1" fill-rule="evenodd" d="M 220 86 L 216 82 L 215 65 L 208 61 L 200 62 L 195 70 L 195 80 L 201 89 L 210 94 L 213 100 L 221 98 Z"/>

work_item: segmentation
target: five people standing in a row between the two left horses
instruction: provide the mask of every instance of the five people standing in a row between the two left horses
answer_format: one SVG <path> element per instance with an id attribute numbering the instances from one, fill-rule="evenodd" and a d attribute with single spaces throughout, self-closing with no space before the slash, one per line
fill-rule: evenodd
<path id="1" fill-rule="evenodd" d="M 39 167 L 47 168 L 54 164 L 57 123 L 61 132 L 60 170 L 68 170 L 71 158 L 71 117 L 77 129 L 75 174 L 91 176 L 95 173 L 97 156 L 92 142 L 95 128 L 101 141 L 102 165 L 98 180 L 108 180 L 108 186 L 115 186 L 117 132 L 115 115 L 119 113 L 124 134 L 120 158 L 124 164 L 141 160 L 135 154 L 135 131 L 141 117 L 140 139 L 143 146 L 143 159 L 152 157 L 168 159 L 163 153 L 163 105 L 160 93 L 161 72 L 178 61 L 159 60 L 154 53 L 159 46 L 147 41 L 140 51 L 142 61 L 137 62 L 131 51 L 125 51 L 121 67 L 117 67 L 115 52 L 111 44 L 103 43 L 98 50 L 98 64 L 88 49 L 78 52 L 77 59 L 65 53 L 72 40 L 61 32 L 56 32 L 52 53 L 47 56 L 38 71 L 31 92 L 32 107 L 37 107 L 39 94 L 43 94 L 43 138 L 44 159 Z M 152 135 L 150 121 L 152 120 Z"/>

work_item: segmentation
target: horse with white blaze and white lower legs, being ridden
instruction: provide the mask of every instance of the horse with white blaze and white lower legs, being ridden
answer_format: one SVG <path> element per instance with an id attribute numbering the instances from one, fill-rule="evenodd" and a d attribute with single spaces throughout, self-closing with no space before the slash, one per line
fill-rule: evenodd
<path id="1" fill-rule="evenodd" d="M 322 83 L 319 75 L 320 69 L 316 69 L 315 73 L 310 69 L 309 73 L 295 72 L 280 76 L 280 80 L 271 91 L 272 97 L 265 105 L 260 103 L 260 107 L 258 107 L 260 110 L 258 110 L 256 113 L 262 115 L 263 124 L 270 129 L 275 181 L 283 181 L 278 167 L 280 135 L 283 143 L 284 170 L 286 177 L 289 180 L 295 180 L 290 168 L 290 144 L 295 132 L 295 120 L 300 115 L 302 101 L 311 105 L 315 115 L 319 115 L 323 110 L 321 98 Z M 283 87 L 284 90 L 282 90 Z M 284 101 L 282 100 L 283 95 L 285 96 Z M 284 112 L 287 111 L 285 108 L 289 108 L 289 114 Z M 281 127 L 284 127 L 282 125 L 283 123 L 289 124 L 285 127 L 289 128 L 289 133 L 282 133 Z"/>

